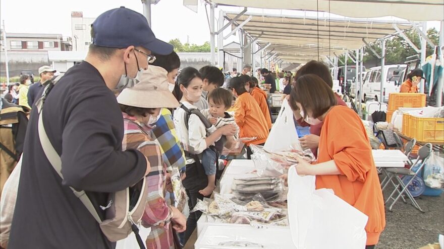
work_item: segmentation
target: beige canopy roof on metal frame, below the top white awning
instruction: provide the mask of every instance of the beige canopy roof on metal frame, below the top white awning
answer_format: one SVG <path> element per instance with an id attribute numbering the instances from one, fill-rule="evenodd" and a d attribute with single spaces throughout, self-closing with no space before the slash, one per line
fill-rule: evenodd
<path id="1" fill-rule="evenodd" d="M 230 20 L 236 16 L 236 13 L 226 14 Z M 305 62 L 334 52 L 359 49 L 364 45 L 363 38 L 371 43 L 396 32 L 394 21 L 264 15 L 247 12 L 236 23 L 251 16 L 243 30 L 252 38 L 260 36 L 258 44 L 261 47 L 271 43 L 266 50 L 277 52 L 279 58 L 288 62 Z M 395 23 L 401 30 L 412 27 L 404 21 Z"/>

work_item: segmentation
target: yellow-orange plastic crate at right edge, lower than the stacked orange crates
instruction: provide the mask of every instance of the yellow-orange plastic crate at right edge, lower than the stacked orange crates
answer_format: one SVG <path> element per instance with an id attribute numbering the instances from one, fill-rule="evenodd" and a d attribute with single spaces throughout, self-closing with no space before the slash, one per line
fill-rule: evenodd
<path id="1" fill-rule="evenodd" d="M 444 118 L 420 118 L 410 116 L 408 125 L 408 136 L 416 138 L 417 141 L 432 143 L 444 142 Z"/>

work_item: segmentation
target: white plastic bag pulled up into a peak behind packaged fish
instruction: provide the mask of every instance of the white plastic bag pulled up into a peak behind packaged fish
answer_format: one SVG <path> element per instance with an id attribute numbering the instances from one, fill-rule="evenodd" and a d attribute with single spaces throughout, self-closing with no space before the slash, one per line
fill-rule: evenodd
<path id="1" fill-rule="evenodd" d="M 288 101 L 284 99 L 281 111 L 271 128 L 264 149 L 270 152 L 279 152 L 292 148 L 302 151 L 293 118 L 293 111 Z"/>

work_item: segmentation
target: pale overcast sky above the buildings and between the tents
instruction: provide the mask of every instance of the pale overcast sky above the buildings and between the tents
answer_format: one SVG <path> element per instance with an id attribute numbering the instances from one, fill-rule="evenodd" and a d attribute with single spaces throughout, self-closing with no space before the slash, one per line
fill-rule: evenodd
<path id="1" fill-rule="evenodd" d="M 0 0 L 0 19 L 5 20 L 6 31 L 10 33 L 59 33 L 71 36 L 72 11 L 83 12 L 83 17 L 97 17 L 120 6 L 143 13 L 140 0 Z M 224 7 L 224 10 L 230 11 L 241 9 Z M 249 11 L 262 13 L 262 10 L 253 8 Z M 279 14 L 286 11 L 269 12 Z M 197 44 L 210 39 L 205 7 L 201 0 L 197 14 L 184 7 L 183 0 L 161 0 L 157 5 L 152 5 L 151 13 L 152 29 L 159 39 L 169 41 L 179 38 L 185 43 L 189 37 L 190 43 Z M 217 22 L 215 24 L 217 27 Z M 439 22 L 428 22 L 427 26 L 439 30 Z M 239 39 L 232 36 L 225 44 L 231 41 L 239 42 Z"/>

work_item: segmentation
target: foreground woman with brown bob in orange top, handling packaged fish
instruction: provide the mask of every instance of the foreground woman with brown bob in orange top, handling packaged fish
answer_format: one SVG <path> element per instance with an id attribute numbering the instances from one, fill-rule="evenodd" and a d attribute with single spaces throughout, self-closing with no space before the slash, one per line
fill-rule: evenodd
<path id="1" fill-rule="evenodd" d="M 337 105 L 330 87 L 317 75 L 297 79 L 290 101 L 309 124 L 323 122 L 318 163 L 298 159 L 299 175 L 316 176 L 316 189 L 332 189 L 335 195 L 368 216 L 366 248 L 373 248 L 385 227 L 385 211 L 379 178 L 359 116 Z M 292 106 L 292 105 L 291 105 Z"/>

